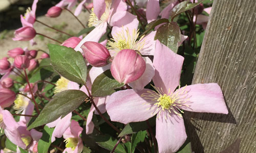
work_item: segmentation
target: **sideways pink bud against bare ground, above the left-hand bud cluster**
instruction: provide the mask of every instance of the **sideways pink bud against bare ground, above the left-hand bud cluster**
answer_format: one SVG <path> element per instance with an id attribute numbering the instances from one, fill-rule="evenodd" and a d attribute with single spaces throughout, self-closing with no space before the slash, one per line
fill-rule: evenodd
<path id="1" fill-rule="evenodd" d="M 14 32 L 14 41 L 29 41 L 33 39 L 36 35 L 35 29 L 33 27 L 22 27 Z"/>

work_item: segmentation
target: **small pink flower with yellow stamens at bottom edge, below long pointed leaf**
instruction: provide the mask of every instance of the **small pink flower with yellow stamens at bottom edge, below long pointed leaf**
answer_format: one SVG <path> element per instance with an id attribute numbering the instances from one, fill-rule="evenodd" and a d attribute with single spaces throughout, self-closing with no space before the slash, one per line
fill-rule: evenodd
<path id="1" fill-rule="evenodd" d="M 68 129 L 63 133 L 63 138 L 66 142 L 66 149 L 63 153 L 80 153 L 82 152 L 83 144 L 80 134 L 82 127 L 75 120 L 72 120 Z"/>

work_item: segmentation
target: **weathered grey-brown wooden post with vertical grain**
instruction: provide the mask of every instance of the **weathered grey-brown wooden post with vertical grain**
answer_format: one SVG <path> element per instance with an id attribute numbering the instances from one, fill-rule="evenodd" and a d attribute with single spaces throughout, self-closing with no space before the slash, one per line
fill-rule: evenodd
<path id="1" fill-rule="evenodd" d="M 218 83 L 228 115 L 185 112 L 193 151 L 220 152 L 241 138 L 241 153 L 256 149 L 256 5 L 215 0 L 193 84 Z"/>

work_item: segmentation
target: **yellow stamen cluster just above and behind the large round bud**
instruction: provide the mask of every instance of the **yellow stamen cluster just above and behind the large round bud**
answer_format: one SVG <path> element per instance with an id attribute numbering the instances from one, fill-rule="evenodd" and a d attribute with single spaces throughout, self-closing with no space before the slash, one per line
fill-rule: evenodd
<path id="1" fill-rule="evenodd" d="M 145 44 L 145 39 L 144 35 L 140 37 L 139 40 L 139 30 L 133 29 L 132 32 L 130 33 L 129 29 L 124 29 L 113 36 L 111 39 L 112 41 L 109 41 L 109 46 L 107 47 L 110 50 L 111 56 L 116 56 L 117 53 L 122 50 L 122 49 L 133 49 L 133 50 L 138 50 L 140 51 L 144 44 Z"/>

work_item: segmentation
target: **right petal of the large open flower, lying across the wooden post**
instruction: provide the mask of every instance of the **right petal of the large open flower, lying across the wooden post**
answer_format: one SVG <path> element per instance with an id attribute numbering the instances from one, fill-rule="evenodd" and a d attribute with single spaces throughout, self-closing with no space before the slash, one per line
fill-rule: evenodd
<path id="1" fill-rule="evenodd" d="M 191 112 L 228 114 L 224 96 L 218 84 L 190 85 L 180 88 L 175 93 L 182 90 L 187 91 L 186 98 L 188 99 L 185 105 L 189 107 L 180 107 L 181 109 Z"/>

